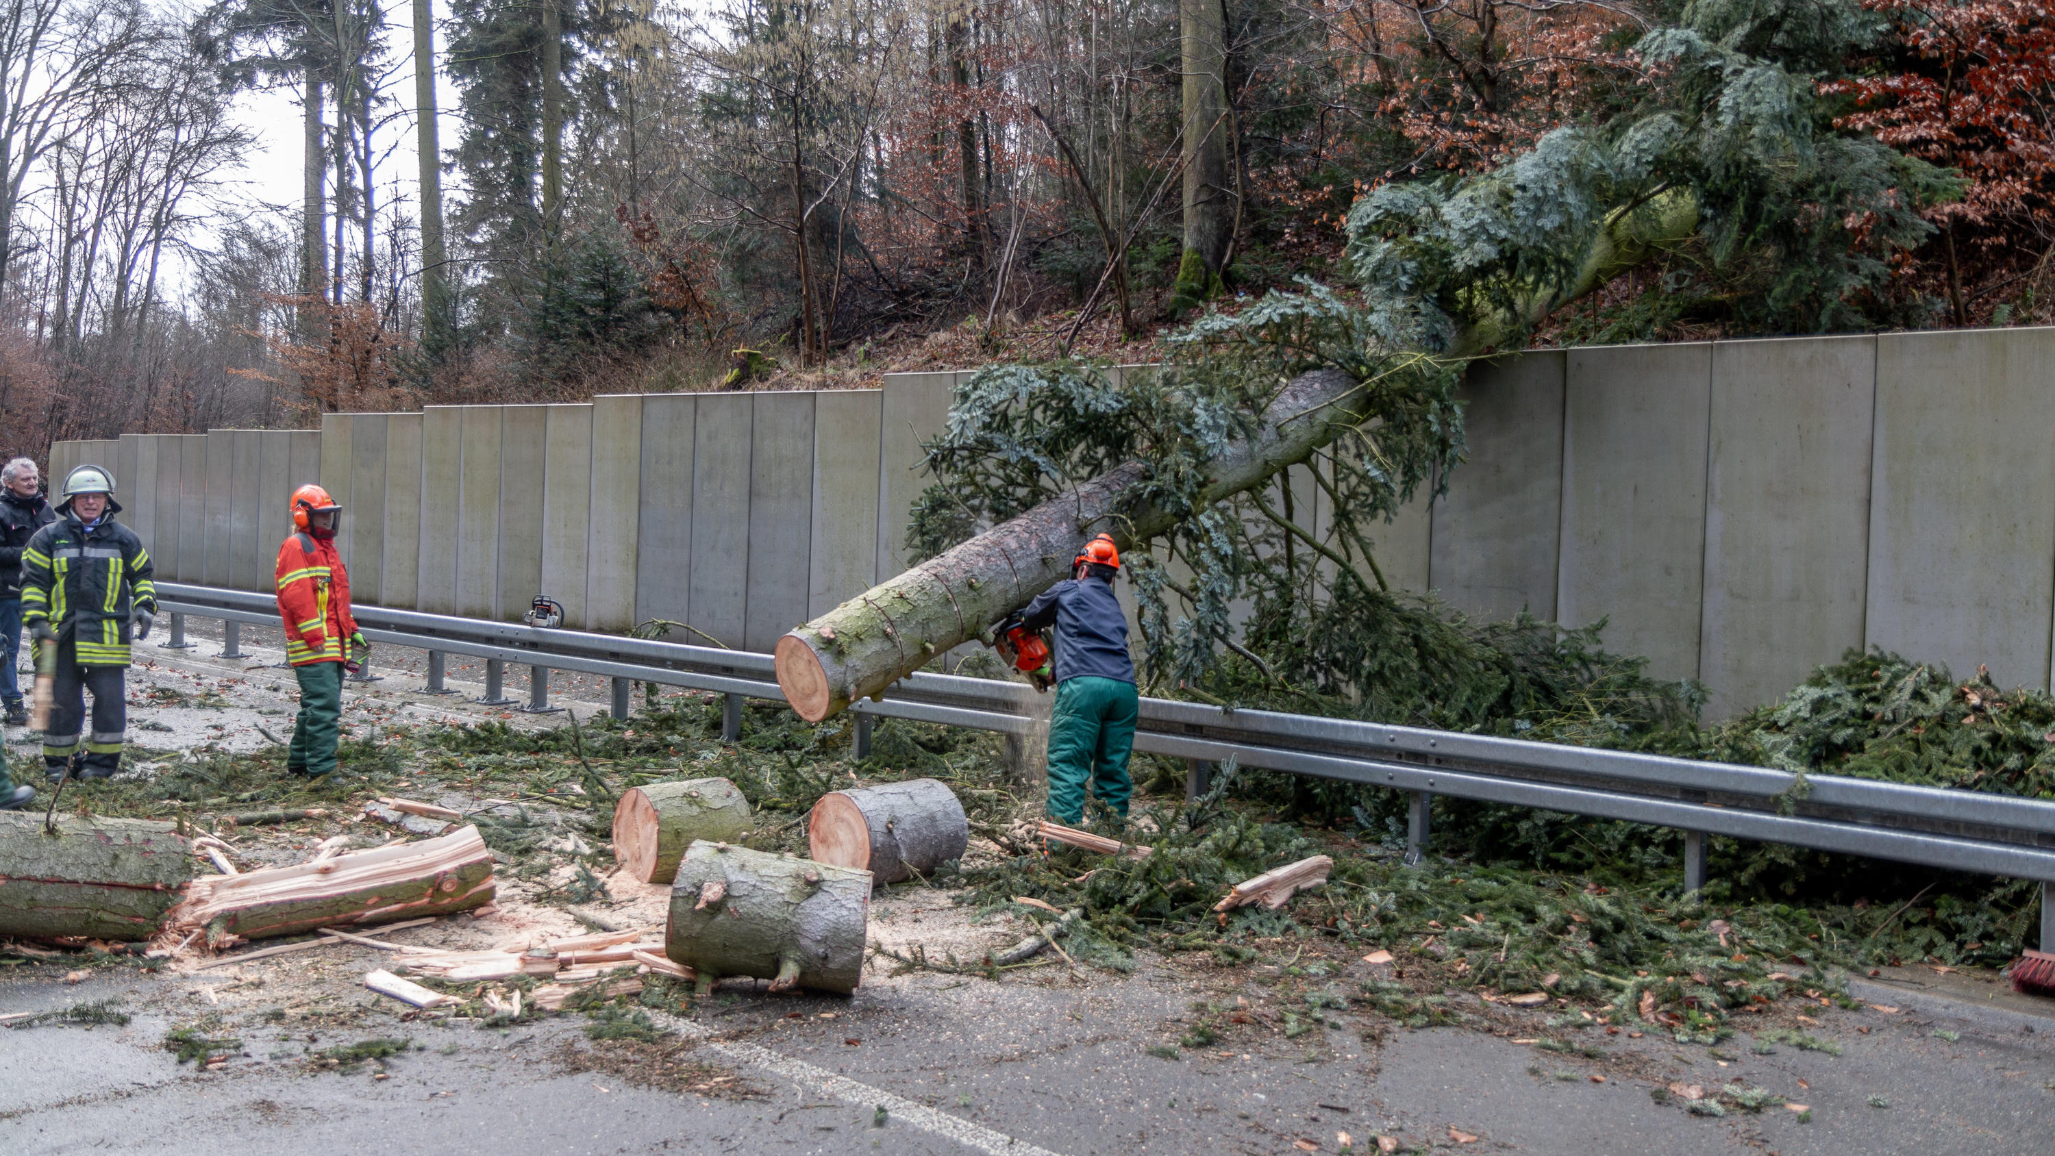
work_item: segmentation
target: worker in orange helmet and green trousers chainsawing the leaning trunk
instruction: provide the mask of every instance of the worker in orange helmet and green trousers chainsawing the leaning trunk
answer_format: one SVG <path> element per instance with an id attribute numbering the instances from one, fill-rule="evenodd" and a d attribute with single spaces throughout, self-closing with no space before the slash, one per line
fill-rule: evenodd
<path id="1" fill-rule="evenodd" d="M 1056 626 L 1056 715 L 1048 725 L 1048 813 L 1081 823 L 1085 788 L 1124 821 L 1128 817 L 1128 754 L 1134 749 L 1134 659 L 1128 616 L 1114 595 L 1120 548 L 1099 534 L 1077 552 L 1071 581 L 1058 581 L 1028 604 L 1019 624 Z"/>

